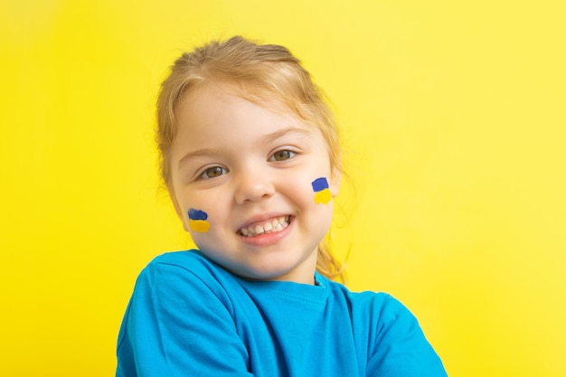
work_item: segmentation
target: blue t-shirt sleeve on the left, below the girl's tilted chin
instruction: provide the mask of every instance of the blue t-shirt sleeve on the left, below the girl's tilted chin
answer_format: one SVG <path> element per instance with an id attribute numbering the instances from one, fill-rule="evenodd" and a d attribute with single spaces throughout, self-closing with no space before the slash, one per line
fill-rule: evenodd
<path id="1" fill-rule="evenodd" d="M 137 278 L 118 335 L 117 377 L 251 376 L 222 289 L 152 262 Z"/>

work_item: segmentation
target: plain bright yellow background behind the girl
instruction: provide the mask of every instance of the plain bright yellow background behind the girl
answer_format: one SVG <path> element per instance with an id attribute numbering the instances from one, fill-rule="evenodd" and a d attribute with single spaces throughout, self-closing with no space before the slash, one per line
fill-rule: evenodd
<path id="1" fill-rule="evenodd" d="M 560 4 L 2 2 L 0 375 L 113 374 L 137 273 L 190 244 L 158 189 L 158 83 L 234 33 L 333 102 L 350 287 L 399 297 L 451 376 L 566 375 Z"/>

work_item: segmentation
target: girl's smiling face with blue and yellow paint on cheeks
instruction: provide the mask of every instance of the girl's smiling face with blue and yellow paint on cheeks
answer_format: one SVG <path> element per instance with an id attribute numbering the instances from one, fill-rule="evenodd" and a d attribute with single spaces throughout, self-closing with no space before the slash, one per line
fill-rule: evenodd
<path id="1" fill-rule="evenodd" d="M 313 284 L 340 184 L 318 128 L 213 85 L 176 117 L 172 196 L 203 254 L 242 278 Z"/>

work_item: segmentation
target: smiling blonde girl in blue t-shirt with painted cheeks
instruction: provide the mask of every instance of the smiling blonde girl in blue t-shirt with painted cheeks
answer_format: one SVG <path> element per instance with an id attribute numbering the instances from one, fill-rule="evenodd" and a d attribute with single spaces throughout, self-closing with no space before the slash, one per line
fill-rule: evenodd
<path id="1" fill-rule="evenodd" d="M 399 301 L 333 281 L 335 121 L 286 48 L 185 53 L 157 108 L 163 178 L 199 250 L 137 278 L 117 376 L 446 375 Z"/>

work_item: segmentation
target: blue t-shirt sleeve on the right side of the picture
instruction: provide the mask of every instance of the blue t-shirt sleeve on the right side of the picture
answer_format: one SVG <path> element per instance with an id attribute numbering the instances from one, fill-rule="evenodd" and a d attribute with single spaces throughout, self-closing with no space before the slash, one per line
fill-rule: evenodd
<path id="1" fill-rule="evenodd" d="M 368 377 L 446 377 L 439 355 L 423 334 L 417 318 L 395 298 L 383 295 L 374 329 Z"/>

